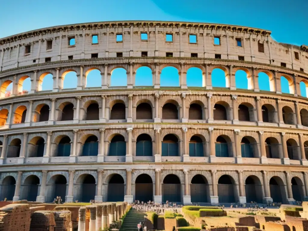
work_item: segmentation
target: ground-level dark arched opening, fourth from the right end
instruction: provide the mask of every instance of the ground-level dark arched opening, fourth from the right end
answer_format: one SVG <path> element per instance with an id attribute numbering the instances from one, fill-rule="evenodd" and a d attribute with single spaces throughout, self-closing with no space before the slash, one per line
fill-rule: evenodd
<path id="1" fill-rule="evenodd" d="M 229 175 L 223 175 L 218 179 L 219 203 L 234 203 L 236 197 L 236 185 Z"/>

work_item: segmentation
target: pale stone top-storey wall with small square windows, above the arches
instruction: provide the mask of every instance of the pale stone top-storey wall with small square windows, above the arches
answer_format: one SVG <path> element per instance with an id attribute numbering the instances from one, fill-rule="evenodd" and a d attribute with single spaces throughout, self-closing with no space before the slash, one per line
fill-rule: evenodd
<path id="1" fill-rule="evenodd" d="M 141 32 L 148 34 L 148 40 L 141 40 Z M 123 35 L 123 42 L 116 42 L 116 35 Z M 166 34 L 173 35 L 173 42 L 166 42 Z M 197 43 L 189 43 L 189 35 L 197 35 Z M 98 35 L 98 43 L 92 44 L 92 35 Z M 214 45 L 214 37 L 220 37 L 221 45 Z M 69 46 L 69 38 L 75 37 L 75 45 Z M 237 40 L 241 39 L 241 47 Z M 47 49 L 47 41 L 52 41 Z M 258 43 L 264 44 L 264 52 L 259 52 Z M 103 22 L 75 24 L 45 28 L 23 34 L 13 35 L 0 40 L 1 71 L 14 67 L 51 61 L 89 59 L 97 53 L 98 58 L 140 57 L 142 51 L 148 56 L 165 57 L 173 52 L 173 57 L 191 57 L 197 53 L 200 58 L 259 62 L 305 71 L 308 73 L 308 53 L 306 46 L 298 47 L 277 43 L 270 37 L 270 31 L 231 25 L 174 23 L 174 22 Z M 30 52 L 26 46 L 30 45 Z M 297 52 L 297 53 L 294 53 Z"/>

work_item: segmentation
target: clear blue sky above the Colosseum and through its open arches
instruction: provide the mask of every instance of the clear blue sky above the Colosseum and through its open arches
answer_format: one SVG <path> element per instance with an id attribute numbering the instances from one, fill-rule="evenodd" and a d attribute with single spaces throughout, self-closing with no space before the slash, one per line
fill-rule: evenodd
<path id="1" fill-rule="evenodd" d="M 272 37 L 278 42 L 299 46 L 308 44 L 308 14 L 306 11 L 308 0 L 293 0 L 292 2 L 288 0 L 259 0 L 257 2 L 244 0 L 221 0 L 219 2 L 214 0 L 53 0 L 39 2 L 16 0 L 2 1 L 1 8 L 1 38 L 43 27 L 80 22 L 157 20 L 213 22 L 257 27 L 271 30 Z M 162 76 L 162 84 L 178 85 L 178 80 L 172 80 L 176 75 L 175 71 L 172 71 L 172 68 L 169 69 L 164 71 L 164 75 L 168 77 L 164 82 L 164 75 Z M 121 70 L 114 71 L 116 82 L 126 82 L 122 73 Z M 100 78 L 98 74 L 97 71 L 89 74 L 89 87 L 96 86 L 98 81 L 95 79 Z M 136 83 L 152 85 L 150 75 L 146 68 L 140 69 L 137 71 L 137 77 L 140 80 L 136 80 Z M 222 82 L 218 77 L 219 70 L 215 70 L 212 75 L 213 86 L 220 86 Z M 43 83 L 43 90 L 52 86 L 51 79 L 48 77 Z M 75 85 L 74 73 L 69 73 L 67 77 L 69 78 L 65 79 L 64 87 L 73 87 Z M 200 86 L 200 70 L 190 70 L 188 77 L 188 86 Z M 260 76 L 260 79 L 262 78 Z M 245 76 L 237 73 L 238 88 L 246 88 L 247 81 L 244 80 Z M 26 90 L 30 89 L 29 85 L 30 81 L 25 80 Z M 261 84 L 260 88 L 269 89 L 266 84 Z M 287 87 L 283 85 L 282 91 L 288 92 Z"/>

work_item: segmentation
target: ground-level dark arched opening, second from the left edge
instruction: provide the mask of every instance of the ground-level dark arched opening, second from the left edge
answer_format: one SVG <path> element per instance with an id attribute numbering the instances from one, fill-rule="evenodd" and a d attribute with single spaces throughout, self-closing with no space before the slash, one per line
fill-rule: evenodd
<path id="1" fill-rule="evenodd" d="M 20 200 L 36 201 L 39 188 L 39 177 L 30 175 L 25 179 L 24 184 L 21 185 Z"/>

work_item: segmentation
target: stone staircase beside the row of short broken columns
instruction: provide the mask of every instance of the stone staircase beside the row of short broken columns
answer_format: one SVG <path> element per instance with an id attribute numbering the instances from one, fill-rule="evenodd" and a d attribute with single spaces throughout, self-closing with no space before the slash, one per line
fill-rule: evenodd
<path id="1" fill-rule="evenodd" d="M 146 214 L 143 212 L 131 209 L 124 218 L 120 231 L 137 231 L 138 230 L 137 225 L 139 222 L 142 223 L 144 221 L 145 215 Z"/>

